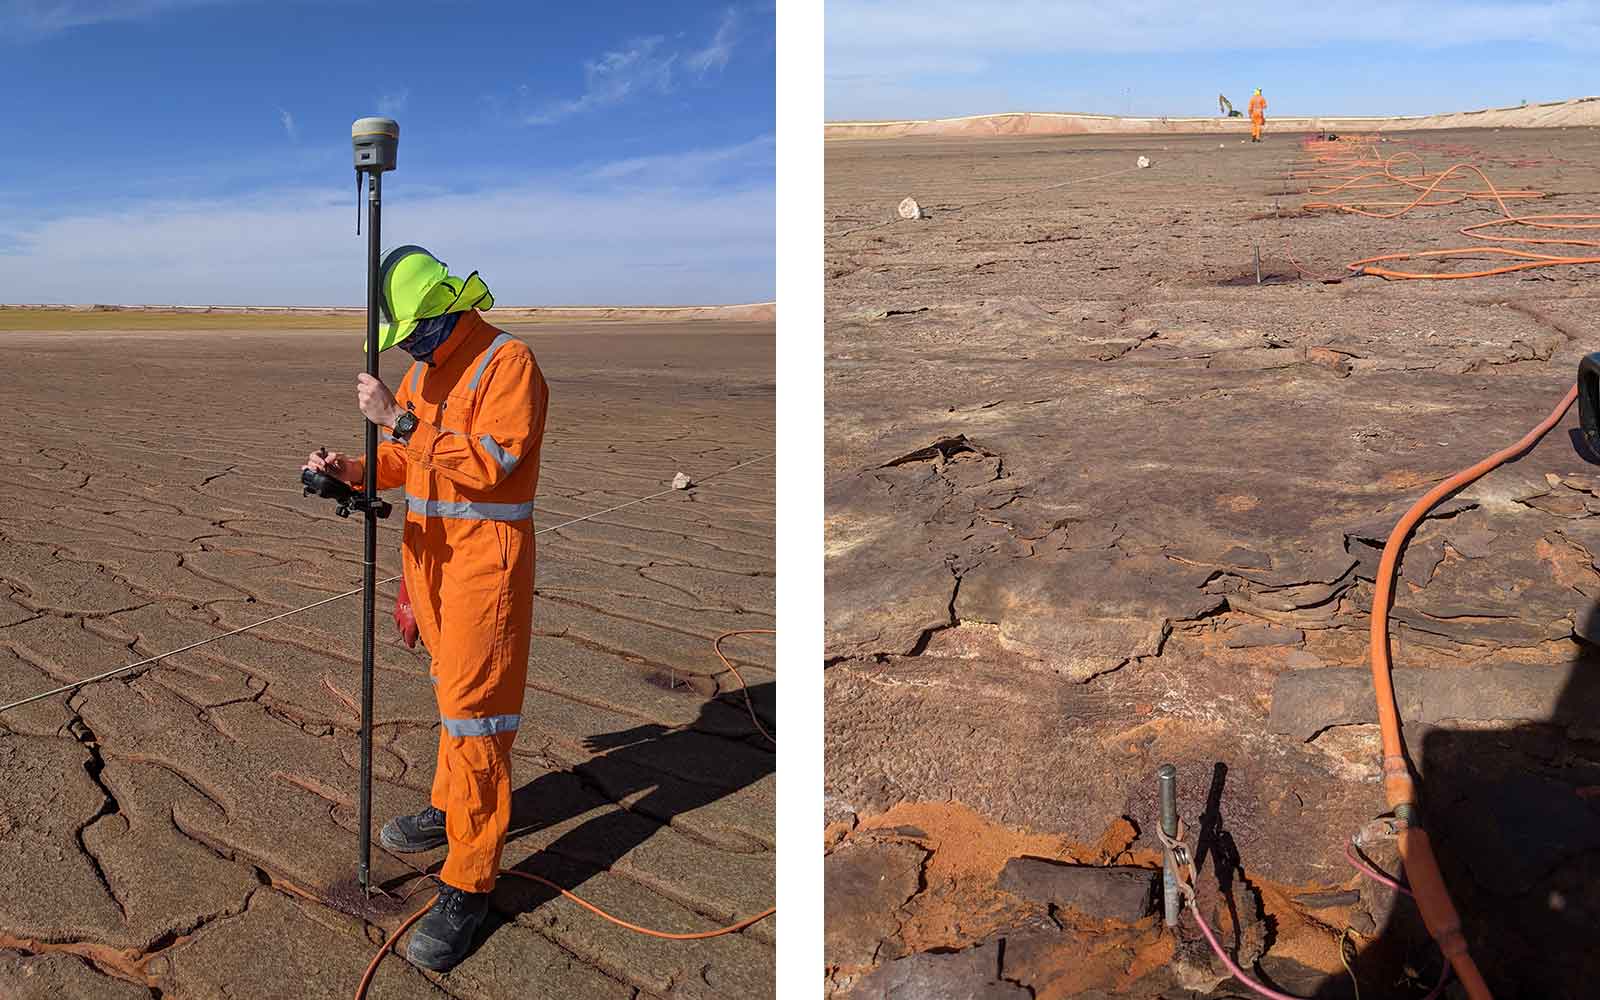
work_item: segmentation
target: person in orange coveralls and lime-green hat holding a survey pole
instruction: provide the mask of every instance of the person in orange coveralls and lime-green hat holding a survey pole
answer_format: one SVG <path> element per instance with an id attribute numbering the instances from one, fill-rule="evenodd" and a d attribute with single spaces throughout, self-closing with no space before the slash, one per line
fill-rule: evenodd
<path id="1" fill-rule="evenodd" d="M 379 842 L 402 853 L 450 845 L 443 888 L 406 947 L 413 963 L 448 971 L 488 914 L 510 822 L 549 389 L 526 344 L 478 314 L 494 299 L 477 272 L 459 278 L 421 246 L 400 246 L 379 285 L 379 349 L 414 360 L 398 395 L 357 376 L 357 402 L 384 429 L 379 490 L 405 486 L 402 587 L 432 654 L 440 715 L 432 802 L 386 822 Z M 358 458 L 318 453 L 306 467 L 365 483 Z"/>

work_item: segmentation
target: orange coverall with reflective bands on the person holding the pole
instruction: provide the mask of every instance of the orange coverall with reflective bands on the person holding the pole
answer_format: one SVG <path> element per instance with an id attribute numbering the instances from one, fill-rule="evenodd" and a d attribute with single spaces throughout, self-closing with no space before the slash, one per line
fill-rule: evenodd
<path id="1" fill-rule="evenodd" d="M 397 402 L 416 430 L 384 432 L 378 486 L 405 486 L 402 571 L 432 654 L 445 883 L 494 888 L 510 824 L 510 744 L 533 634 L 533 498 L 549 387 L 533 350 L 477 310 L 416 362 Z"/>

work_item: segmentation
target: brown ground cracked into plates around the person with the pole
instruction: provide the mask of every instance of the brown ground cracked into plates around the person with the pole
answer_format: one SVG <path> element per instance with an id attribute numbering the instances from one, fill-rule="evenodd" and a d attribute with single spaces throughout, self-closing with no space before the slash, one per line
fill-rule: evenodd
<path id="1" fill-rule="evenodd" d="M 0 702 L 360 586 L 358 518 L 298 482 L 360 450 L 358 318 L 0 320 Z M 773 466 L 712 474 L 773 450 L 773 328 L 507 328 L 550 382 L 536 526 L 696 486 L 539 538 L 502 866 L 669 931 L 766 909 L 774 757 L 712 638 L 773 627 Z M 381 522 L 379 578 L 398 547 Z M 438 741 L 381 590 L 374 827 L 427 803 Z M 770 637 L 723 648 L 770 720 Z M 430 896 L 374 830 L 374 883 L 416 894 L 350 906 L 358 698 L 355 597 L 0 715 L 0 995 L 350 997 Z M 773 994 L 774 922 L 678 944 L 550 896 L 502 880 L 459 968 L 390 955 L 371 997 Z"/>

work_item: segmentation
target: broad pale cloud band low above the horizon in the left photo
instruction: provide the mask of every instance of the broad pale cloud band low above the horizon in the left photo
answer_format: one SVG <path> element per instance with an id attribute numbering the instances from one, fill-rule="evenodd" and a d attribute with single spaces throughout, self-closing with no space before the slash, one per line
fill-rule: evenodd
<path id="1" fill-rule="evenodd" d="M 597 186 L 566 174 L 477 194 L 395 182 L 386 195 L 392 242 L 482 270 L 507 306 L 773 298 L 771 174 L 723 190 Z M 349 202 L 342 187 L 310 187 L 35 221 L 8 213 L 0 302 L 360 304 Z M 278 264 L 261 267 L 262 259 Z"/>

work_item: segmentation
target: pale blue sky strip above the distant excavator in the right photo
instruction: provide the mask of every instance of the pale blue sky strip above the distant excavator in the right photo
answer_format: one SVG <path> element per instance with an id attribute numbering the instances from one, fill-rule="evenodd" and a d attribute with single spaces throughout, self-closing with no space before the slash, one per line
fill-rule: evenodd
<path id="1" fill-rule="evenodd" d="M 1430 114 L 1600 93 L 1600 3 L 829 0 L 826 114 Z"/>

